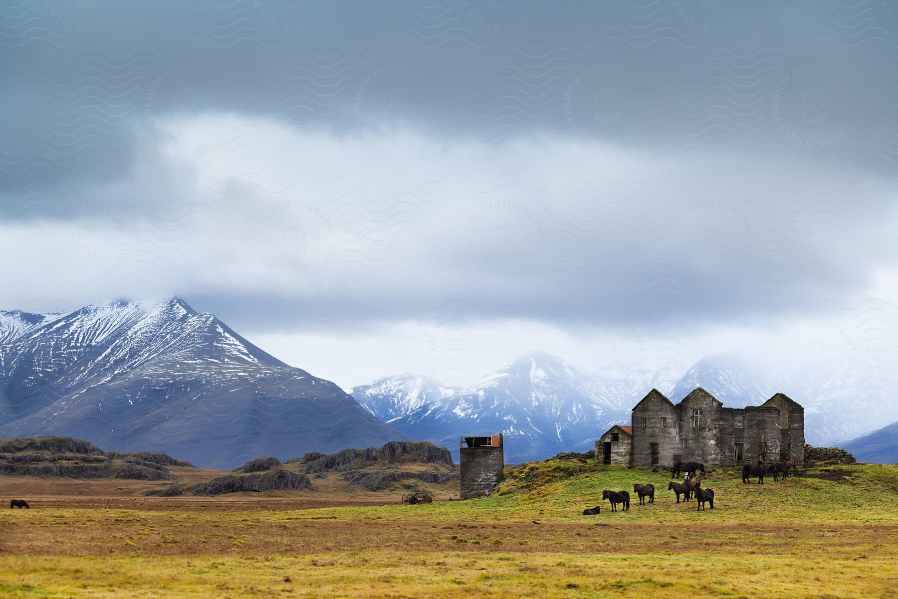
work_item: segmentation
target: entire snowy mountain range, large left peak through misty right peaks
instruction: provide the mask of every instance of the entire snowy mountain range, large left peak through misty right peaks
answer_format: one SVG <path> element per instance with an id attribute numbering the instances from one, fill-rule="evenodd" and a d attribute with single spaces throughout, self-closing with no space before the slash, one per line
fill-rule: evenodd
<path id="1" fill-rule="evenodd" d="M 805 407 L 814 445 L 898 417 L 889 405 L 858 407 L 850 381 L 797 380 L 771 381 L 732 357 L 706 357 L 681 375 L 649 367 L 584 371 L 537 353 L 466 387 L 401 374 L 350 396 L 176 297 L 69 313 L 0 312 L 0 436 L 75 436 L 225 469 L 260 455 L 407 438 L 445 445 L 457 457 L 459 436 L 499 431 L 509 462 L 583 451 L 612 424 L 629 423 L 631 408 L 653 387 L 680 401 L 700 386 L 735 408 L 785 392 Z"/>

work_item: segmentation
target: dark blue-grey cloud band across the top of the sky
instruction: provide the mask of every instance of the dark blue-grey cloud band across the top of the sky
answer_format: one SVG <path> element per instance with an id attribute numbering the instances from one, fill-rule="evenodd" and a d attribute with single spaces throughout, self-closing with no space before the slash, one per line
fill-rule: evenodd
<path id="1" fill-rule="evenodd" d="M 46 216 L 76 212 L 69 186 L 121 176 L 165 115 L 208 110 L 890 170 L 893 17 L 878 2 L 5 3 L 4 214 L 33 216 L 26 187 Z"/>

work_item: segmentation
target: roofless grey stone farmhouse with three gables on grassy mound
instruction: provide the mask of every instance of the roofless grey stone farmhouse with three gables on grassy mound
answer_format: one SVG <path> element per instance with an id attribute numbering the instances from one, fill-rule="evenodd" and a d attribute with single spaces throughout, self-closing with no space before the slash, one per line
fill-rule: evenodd
<path id="1" fill-rule="evenodd" d="M 760 406 L 725 408 L 701 387 L 677 404 L 656 389 L 639 401 L 629 426 L 595 442 L 595 460 L 668 466 L 676 458 L 711 466 L 805 459 L 805 409 L 783 393 Z"/>

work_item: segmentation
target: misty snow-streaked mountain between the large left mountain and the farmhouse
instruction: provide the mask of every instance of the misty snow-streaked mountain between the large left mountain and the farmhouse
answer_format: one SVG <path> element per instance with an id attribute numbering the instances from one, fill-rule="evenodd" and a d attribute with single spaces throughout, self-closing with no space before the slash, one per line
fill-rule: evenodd
<path id="1" fill-rule="evenodd" d="M 630 409 L 645 394 L 635 387 L 641 391 L 644 384 L 673 386 L 660 371 L 653 377 L 648 369 L 634 369 L 628 377 L 618 370 L 605 379 L 537 353 L 465 388 L 401 375 L 357 387 L 353 396 L 402 433 L 446 445 L 453 454 L 459 436 L 501 431 L 506 460 L 521 462 L 591 448 L 598 428 L 629 421 Z"/>

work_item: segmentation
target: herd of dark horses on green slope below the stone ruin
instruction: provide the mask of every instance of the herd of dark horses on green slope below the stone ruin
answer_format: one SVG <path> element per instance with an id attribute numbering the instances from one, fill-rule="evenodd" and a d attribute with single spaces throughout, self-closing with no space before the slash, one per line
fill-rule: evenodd
<path id="1" fill-rule="evenodd" d="M 745 464 L 742 468 L 742 481 L 744 483 L 751 483 L 752 481 L 750 479 L 752 477 L 757 477 L 758 482 L 764 484 L 764 477 L 768 474 L 773 475 L 773 480 L 779 480 L 780 476 L 782 476 L 783 480 L 786 480 L 788 472 L 794 468 L 795 462 L 792 460 L 756 466 Z M 676 460 L 674 461 L 674 465 L 671 466 L 671 477 L 679 478 L 681 474 L 686 475 L 683 482 L 674 482 L 674 480 L 671 480 L 667 483 L 667 490 L 674 491 L 676 502 L 680 503 L 681 497 L 683 501 L 690 501 L 691 498 L 695 498 L 696 511 L 704 511 L 706 504 L 709 509 L 714 509 L 714 489 L 701 488 L 701 477 L 699 474 L 705 474 L 705 464 Z M 633 492 L 639 497 L 639 505 L 645 505 L 646 500 L 648 503 L 655 503 L 655 485 L 634 483 Z M 621 506 L 621 510 L 623 511 L 629 510 L 628 491 L 603 490 L 602 500 L 604 501 L 606 499 L 612 505 L 612 512 L 618 511 L 618 506 Z M 583 510 L 584 515 L 597 515 L 601 512 L 601 505 Z"/>

